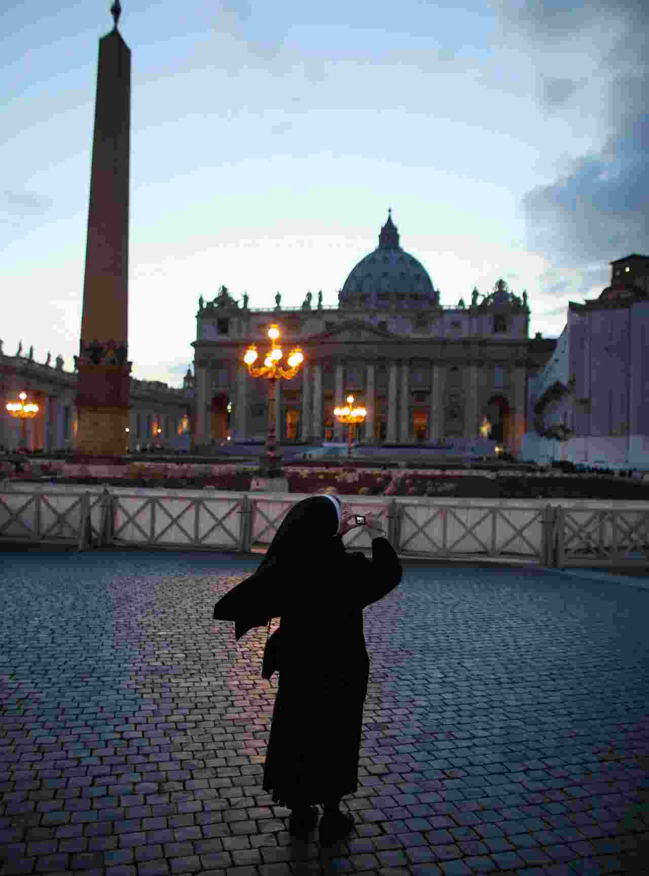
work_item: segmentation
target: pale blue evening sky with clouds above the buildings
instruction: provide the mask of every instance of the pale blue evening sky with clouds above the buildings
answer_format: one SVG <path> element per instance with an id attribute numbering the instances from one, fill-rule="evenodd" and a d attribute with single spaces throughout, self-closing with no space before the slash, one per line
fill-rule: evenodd
<path id="1" fill-rule="evenodd" d="M 71 370 L 109 0 L 0 13 L 0 338 Z M 123 0 L 129 358 L 181 385 L 200 295 L 325 306 L 378 244 L 443 305 L 526 289 L 530 336 L 649 254 L 645 0 Z"/>

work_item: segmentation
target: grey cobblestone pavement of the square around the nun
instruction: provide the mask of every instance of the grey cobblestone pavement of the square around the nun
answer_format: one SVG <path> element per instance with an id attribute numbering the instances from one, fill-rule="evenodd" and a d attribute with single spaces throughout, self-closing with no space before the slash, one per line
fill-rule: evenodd
<path id="1" fill-rule="evenodd" d="M 260 787 L 265 630 L 211 619 L 257 562 L 4 554 L 3 876 L 649 873 L 649 592 L 406 567 L 365 611 L 356 827 L 325 849 Z"/>

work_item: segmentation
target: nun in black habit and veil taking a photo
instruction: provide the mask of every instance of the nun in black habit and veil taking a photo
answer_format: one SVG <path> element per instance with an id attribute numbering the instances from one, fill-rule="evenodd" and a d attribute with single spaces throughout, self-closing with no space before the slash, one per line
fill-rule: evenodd
<path id="1" fill-rule="evenodd" d="M 347 552 L 342 536 L 372 533 L 372 558 Z M 286 514 L 257 571 L 215 604 L 240 639 L 281 618 L 267 640 L 263 677 L 279 672 L 263 788 L 291 809 L 289 830 L 307 837 L 323 809 L 320 839 L 349 834 L 340 809 L 358 788 L 358 755 L 370 661 L 363 608 L 401 581 L 401 564 L 375 515 L 346 511 L 337 496 L 303 499 Z"/>

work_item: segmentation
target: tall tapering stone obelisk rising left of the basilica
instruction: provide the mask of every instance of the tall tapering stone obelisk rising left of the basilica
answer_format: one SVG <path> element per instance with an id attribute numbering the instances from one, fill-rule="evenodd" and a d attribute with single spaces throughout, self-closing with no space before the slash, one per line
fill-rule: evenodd
<path id="1" fill-rule="evenodd" d="M 129 153 L 131 49 L 115 26 L 99 40 L 95 133 L 83 280 L 74 456 L 123 456 L 129 425 Z"/>

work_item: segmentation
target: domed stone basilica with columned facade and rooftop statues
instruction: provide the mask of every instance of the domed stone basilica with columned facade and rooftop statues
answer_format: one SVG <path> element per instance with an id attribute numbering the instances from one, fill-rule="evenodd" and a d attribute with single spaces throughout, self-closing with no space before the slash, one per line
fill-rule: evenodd
<path id="1" fill-rule="evenodd" d="M 528 338 L 526 293 L 503 279 L 467 301 L 443 306 L 420 262 L 404 251 L 388 215 L 378 246 L 349 273 L 337 307 L 307 294 L 301 307 L 250 309 L 222 286 L 199 300 L 194 346 L 194 443 L 264 440 L 268 387 L 243 364 L 260 352 L 277 323 L 284 350 L 300 346 L 305 363 L 278 381 L 279 441 L 342 441 L 334 408 L 354 395 L 367 417 L 360 442 L 444 445 L 493 442 L 518 452 L 526 432 L 527 381 L 546 364 L 555 341 Z"/>

